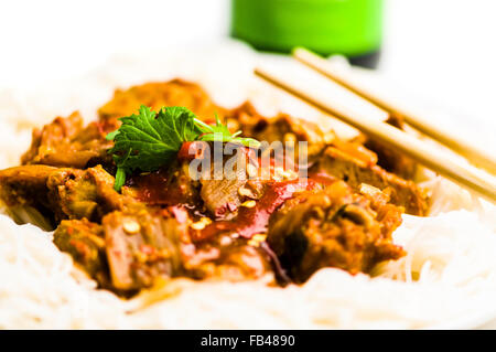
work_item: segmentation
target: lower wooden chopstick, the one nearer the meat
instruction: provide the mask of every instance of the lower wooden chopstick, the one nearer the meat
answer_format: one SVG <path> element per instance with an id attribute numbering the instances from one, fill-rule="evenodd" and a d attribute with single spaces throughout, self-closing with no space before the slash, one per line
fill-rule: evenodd
<path id="1" fill-rule="evenodd" d="M 496 203 L 496 178 L 493 175 L 463 162 L 463 160 L 453 158 L 446 151 L 428 145 L 398 128 L 382 121 L 371 120 L 366 114 L 352 111 L 345 106 L 333 105 L 328 99 L 319 97 L 316 92 L 312 93 L 309 92 L 310 89 L 301 88 L 301 85 L 291 83 L 281 74 L 270 73 L 260 67 L 255 70 L 255 74 Z"/>

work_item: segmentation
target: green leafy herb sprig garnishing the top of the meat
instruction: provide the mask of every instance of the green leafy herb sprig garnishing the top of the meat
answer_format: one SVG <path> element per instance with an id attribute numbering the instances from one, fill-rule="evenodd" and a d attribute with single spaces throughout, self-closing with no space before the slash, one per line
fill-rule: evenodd
<path id="1" fill-rule="evenodd" d="M 114 188 L 120 191 L 126 177 L 134 170 L 155 171 L 175 158 L 185 141 L 220 141 L 257 148 L 252 138 L 238 137 L 241 131 L 230 134 L 227 126 L 216 117 L 209 126 L 196 118 L 185 107 L 165 107 L 159 113 L 142 105 L 138 115 L 121 117 L 119 129 L 107 135 L 115 145 L 109 150 L 117 166 Z"/>

